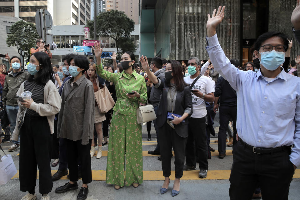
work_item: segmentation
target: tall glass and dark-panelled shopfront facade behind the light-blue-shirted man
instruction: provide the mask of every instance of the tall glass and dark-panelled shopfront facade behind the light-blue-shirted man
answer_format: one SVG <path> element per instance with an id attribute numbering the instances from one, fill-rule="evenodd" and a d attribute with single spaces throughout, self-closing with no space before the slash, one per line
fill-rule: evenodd
<path id="1" fill-rule="evenodd" d="M 293 40 L 291 59 L 300 52 L 293 37 L 291 14 L 295 0 L 141 0 L 140 24 L 149 24 L 149 9 L 154 10 L 154 56 L 165 59 L 187 60 L 196 56 L 207 60 L 207 13 L 219 5 L 226 6 L 225 18 L 217 27 L 217 36 L 227 58 L 240 60 L 240 64 L 252 61 L 252 45 L 259 35 L 268 31 L 284 32 Z M 143 17 L 147 16 L 147 17 Z M 141 32 L 141 55 L 147 40 Z M 150 41 L 151 40 L 151 41 Z M 148 49 L 149 51 L 149 49 Z M 147 55 L 147 54 L 146 54 Z"/>

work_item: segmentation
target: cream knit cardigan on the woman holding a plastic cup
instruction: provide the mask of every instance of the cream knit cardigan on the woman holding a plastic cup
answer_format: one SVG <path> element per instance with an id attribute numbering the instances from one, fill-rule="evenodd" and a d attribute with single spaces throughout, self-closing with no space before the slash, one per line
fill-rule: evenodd
<path id="1" fill-rule="evenodd" d="M 24 91 L 24 82 L 21 84 L 19 90 L 17 91 L 17 95 L 21 96 L 21 93 Z M 17 100 L 19 105 L 19 110 L 17 114 L 17 122 L 15 130 L 12 133 L 12 140 L 18 140 L 20 129 L 19 124 L 23 123 L 24 116 L 26 113 L 26 107 L 22 106 L 22 104 Z M 49 80 L 46 83 L 44 88 L 44 103 L 35 103 L 32 102 L 30 105 L 30 109 L 36 111 L 40 116 L 47 116 L 47 120 L 50 127 L 50 133 L 54 133 L 54 118 L 55 114 L 57 114 L 60 110 L 60 105 L 62 103 L 62 98 L 60 97 L 57 88 L 54 83 Z"/>

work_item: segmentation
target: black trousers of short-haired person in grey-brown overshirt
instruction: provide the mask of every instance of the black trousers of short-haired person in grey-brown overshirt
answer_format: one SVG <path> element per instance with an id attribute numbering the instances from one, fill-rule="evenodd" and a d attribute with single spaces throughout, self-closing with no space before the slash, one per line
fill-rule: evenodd
<path id="1" fill-rule="evenodd" d="M 70 174 L 70 181 L 78 181 L 78 160 L 81 165 L 79 169 L 81 170 L 82 183 L 88 184 L 92 182 L 92 166 L 91 166 L 91 150 L 92 140 L 86 145 L 81 144 L 81 140 L 73 141 L 67 139 L 68 147 L 68 167 Z"/>

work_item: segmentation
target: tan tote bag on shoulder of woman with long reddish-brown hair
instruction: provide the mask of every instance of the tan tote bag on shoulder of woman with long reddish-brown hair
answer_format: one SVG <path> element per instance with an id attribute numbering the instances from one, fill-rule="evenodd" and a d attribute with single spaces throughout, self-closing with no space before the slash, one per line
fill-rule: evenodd
<path id="1" fill-rule="evenodd" d="M 106 85 L 102 89 L 99 87 L 99 81 L 98 78 L 96 79 L 98 91 L 95 92 L 95 99 L 98 104 L 98 108 L 100 113 L 107 113 L 110 111 L 113 106 L 115 105 L 115 102 L 113 100 L 112 95 L 109 93 L 108 88 Z"/>

